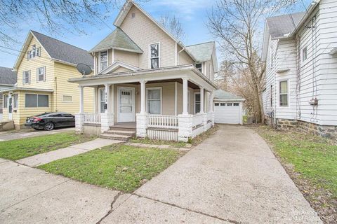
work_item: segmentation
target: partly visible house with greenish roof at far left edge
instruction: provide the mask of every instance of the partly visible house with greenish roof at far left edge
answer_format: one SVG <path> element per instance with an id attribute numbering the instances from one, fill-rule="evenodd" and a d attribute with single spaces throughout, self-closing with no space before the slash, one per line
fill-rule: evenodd
<path id="1" fill-rule="evenodd" d="M 11 68 L 0 66 L 0 90 L 11 88 L 17 82 L 17 73 L 12 70 Z M 0 93 L 0 121 L 2 120 L 3 108 L 3 94 Z"/>

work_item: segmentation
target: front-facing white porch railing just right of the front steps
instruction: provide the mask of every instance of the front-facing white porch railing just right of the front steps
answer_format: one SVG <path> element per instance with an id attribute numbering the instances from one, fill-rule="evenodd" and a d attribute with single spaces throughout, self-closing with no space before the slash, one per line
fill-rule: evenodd
<path id="1" fill-rule="evenodd" d="M 147 115 L 147 127 L 178 129 L 178 116 Z"/>

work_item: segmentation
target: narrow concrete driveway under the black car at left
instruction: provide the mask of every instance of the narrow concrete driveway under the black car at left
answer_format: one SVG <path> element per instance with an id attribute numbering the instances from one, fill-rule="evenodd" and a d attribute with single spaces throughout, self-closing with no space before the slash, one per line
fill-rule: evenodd
<path id="1" fill-rule="evenodd" d="M 61 132 L 70 132 L 74 131 L 74 127 L 67 127 L 67 128 L 58 128 L 53 131 L 47 132 L 45 130 L 34 130 L 32 128 L 25 128 L 20 131 L 7 131 L 7 132 L 0 132 L 0 141 L 8 141 L 14 139 L 25 139 L 29 137 L 38 137 L 47 134 L 56 134 Z"/>

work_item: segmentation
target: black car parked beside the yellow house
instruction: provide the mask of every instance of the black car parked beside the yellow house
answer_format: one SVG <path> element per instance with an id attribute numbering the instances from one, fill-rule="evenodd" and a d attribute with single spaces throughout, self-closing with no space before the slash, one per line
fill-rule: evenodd
<path id="1" fill-rule="evenodd" d="M 42 113 L 27 118 L 25 126 L 46 131 L 51 131 L 55 127 L 74 127 L 75 117 L 65 112 Z"/>

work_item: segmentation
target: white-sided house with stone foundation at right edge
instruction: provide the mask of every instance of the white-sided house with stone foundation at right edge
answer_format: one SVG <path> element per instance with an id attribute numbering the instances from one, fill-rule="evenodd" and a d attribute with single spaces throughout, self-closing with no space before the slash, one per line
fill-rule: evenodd
<path id="1" fill-rule="evenodd" d="M 312 1 L 308 10 L 267 18 L 263 107 L 280 128 L 337 133 L 337 1 Z"/>

